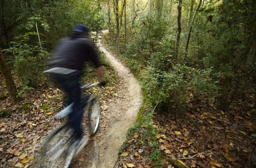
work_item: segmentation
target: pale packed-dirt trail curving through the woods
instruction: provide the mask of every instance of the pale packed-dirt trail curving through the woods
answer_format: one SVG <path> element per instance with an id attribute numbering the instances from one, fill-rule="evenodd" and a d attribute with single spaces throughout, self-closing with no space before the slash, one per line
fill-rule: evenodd
<path id="1" fill-rule="evenodd" d="M 137 118 L 142 102 L 142 93 L 138 81 L 128 68 L 123 66 L 121 62 L 117 61 L 114 56 L 112 56 L 111 53 L 102 46 L 102 44 L 100 44 L 100 49 L 108 57 L 111 65 L 116 69 L 119 75 L 124 78 L 125 87 L 127 87 L 128 91 L 125 96 L 126 98 L 119 101 L 119 104 L 116 104 L 117 106 L 112 107 L 113 110 L 111 112 L 113 112 L 113 115 L 116 115 L 116 112 L 121 112 L 119 120 L 116 120 L 112 126 L 107 129 L 105 135 L 101 137 L 103 140 L 101 144 L 108 144 L 108 147 L 99 147 L 99 163 L 96 167 L 113 168 L 118 157 L 119 148 L 125 141 L 125 133 L 134 124 Z M 127 104 L 129 108 L 121 111 L 124 104 Z"/>

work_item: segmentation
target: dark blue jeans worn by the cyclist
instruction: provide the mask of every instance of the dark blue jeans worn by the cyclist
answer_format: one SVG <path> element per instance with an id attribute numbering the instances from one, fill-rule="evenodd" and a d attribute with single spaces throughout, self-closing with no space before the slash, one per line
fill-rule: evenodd
<path id="1" fill-rule="evenodd" d="M 71 114 L 68 116 L 70 125 L 74 129 L 76 137 L 80 138 L 81 134 L 81 120 L 83 117 L 83 110 L 81 109 L 81 89 L 79 79 L 81 73 L 72 73 L 67 75 L 53 74 L 58 84 L 67 92 L 67 105 L 74 102 Z"/>

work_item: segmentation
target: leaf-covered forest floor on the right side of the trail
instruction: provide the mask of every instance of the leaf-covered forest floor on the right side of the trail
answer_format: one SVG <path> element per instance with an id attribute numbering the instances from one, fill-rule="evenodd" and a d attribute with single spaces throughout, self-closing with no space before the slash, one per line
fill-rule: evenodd
<path id="1" fill-rule="evenodd" d="M 107 48 L 114 54 L 115 45 L 109 44 Z M 118 58 L 128 65 L 123 57 Z M 226 111 L 218 109 L 218 104 L 208 104 L 207 99 L 204 103 L 188 102 L 189 109 L 173 107 L 155 110 L 151 120 L 151 126 L 159 132 L 155 138 L 163 168 L 172 168 L 168 158 L 180 160 L 189 168 L 256 167 L 255 92 L 248 92 L 243 99 L 236 99 Z M 150 109 L 144 110 L 147 113 Z M 152 155 L 154 149 L 148 140 L 143 139 L 148 128 L 141 127 L 140 132 L 135 132 L 124 144 L 116 167 L 157 166 L 157 162 L 150 159 L 156 157 Z"/>

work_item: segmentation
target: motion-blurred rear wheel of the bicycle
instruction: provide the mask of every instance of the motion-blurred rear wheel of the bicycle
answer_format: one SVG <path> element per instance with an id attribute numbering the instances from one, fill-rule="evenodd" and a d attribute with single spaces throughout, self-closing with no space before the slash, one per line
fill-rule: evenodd
<path id="1" fill-rule="evenodd" d="M 35 160 L 36 166 L 38 168 L 62 168 L 66 165 L 66 158 L 70 155 L 68 151 L 74 138 L 73 130 L 67 123 L 53 130 L 44 141 L 39 156 Z"/>

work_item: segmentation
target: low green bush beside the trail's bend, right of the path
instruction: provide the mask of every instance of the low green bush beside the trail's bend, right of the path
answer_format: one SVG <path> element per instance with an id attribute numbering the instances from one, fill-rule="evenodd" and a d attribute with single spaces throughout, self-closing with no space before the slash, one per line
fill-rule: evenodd
<path id="1" fill-rule="evenodd" d="M 188 99 L 199 99 L 199 95 L 214 101 L 218 81 L 211 78 L 210 72 L 210 69 L 198 70 L 180 64 L 172 66 L 169 72 L 148 67 L 141 84 L 153 105 L 186 107 Z"/>

